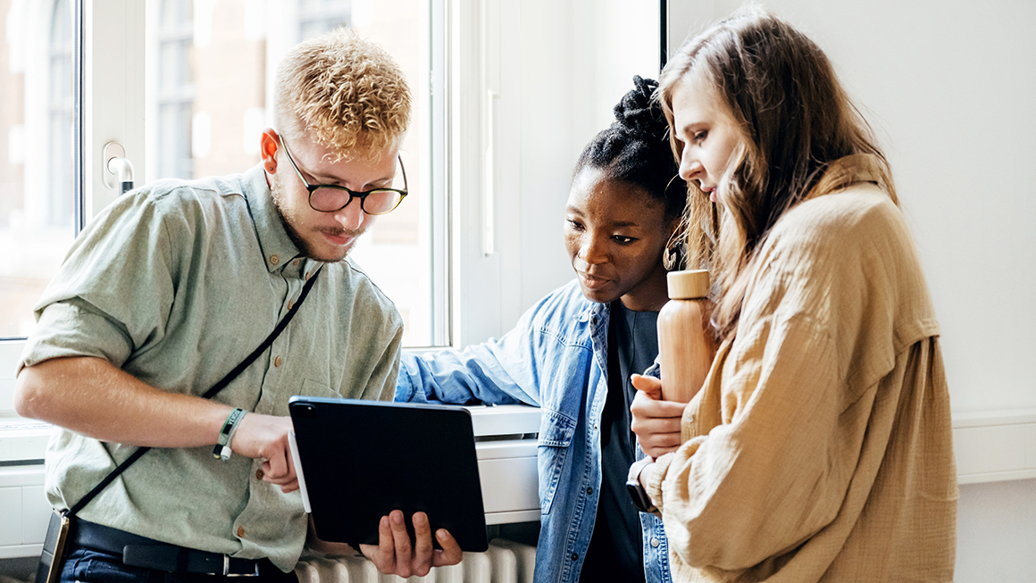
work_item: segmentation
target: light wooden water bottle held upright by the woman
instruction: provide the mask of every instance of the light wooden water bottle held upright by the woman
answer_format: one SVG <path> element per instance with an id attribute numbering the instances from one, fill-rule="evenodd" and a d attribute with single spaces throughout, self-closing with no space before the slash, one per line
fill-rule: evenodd
<path id="1" fill-rule="evenodd" d="M 658 313 L 662 399 L 688 403 L 701 389 L 716 355 L 710 330 L 709 271 L 670 271 L 669 301 Z"/>

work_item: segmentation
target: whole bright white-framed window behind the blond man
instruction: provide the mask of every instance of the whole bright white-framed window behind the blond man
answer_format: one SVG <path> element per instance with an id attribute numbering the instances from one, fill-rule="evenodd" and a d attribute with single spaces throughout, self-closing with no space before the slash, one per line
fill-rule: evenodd
<path id="1" fill-rule="evenodd" d="M 378 220 L 353 259 L 396 302 L 408 346 L 463 342 L 461 334 L 471 342 L 500 331 L 501 319 L 492 314 L 501 304 L 494 299 L 497 288 L 519 274 L 481 276 L 486 266 L 500 272 L 506 258 L 483 261 L 479 244 L 458 236 L 477 233 L 482 224 L 476 187 L 483 183 L 481 118 L 467 114 L 482 109 L 484 91 L 447 76 L 451 67 L 464 79 L 480 75 L 478 59 L 471 60 L 477 53 L 461 50 L 479 33 L 476 22 L 458 20 L 470 13 L 469 0 L 85 6 L 82 0 L 0 0 L 0 244 L 17 250 L 0 265 L 0 415 L 10 414 L 15 363 L 33 326 L 32 307 L 83 221 L 118 196 L 104 186 L 104 146 L 114 140 L 125 147 L 138 184 L 249 169 L 258 163 L 259 136 L 269 124 L 281 56 L 299 38 L 341 23 L 382 45 L 404 68 L 414 95 L 414 120 L 402 146 L 411 195 Z M 462 54 L 468 56 L 457 60 Z M 81 98 L 73 93 L 79 87 Z M 474 98 L 462 103 L 448 98 L 448 91 Z M 457 136 L 453 145 L 450 133 Z M 467 162 L 458 162 L 458 153 Z M 498 212 L 513 214 L 515 204 Z M 451 289 L 467 290 L 460 308 L 472 316 L 465 317 L 464 329 L 451 312 L 460 297 Z"/>

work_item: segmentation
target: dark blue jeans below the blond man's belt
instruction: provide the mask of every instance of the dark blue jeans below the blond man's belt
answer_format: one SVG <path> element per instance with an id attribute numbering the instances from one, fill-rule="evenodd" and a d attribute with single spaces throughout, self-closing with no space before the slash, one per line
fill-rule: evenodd
<path id="1" fill-rule="evenodd" d="M 61 583 L 298 583 L 292 573 L 274 571 L 259 577 L 224 577 L 193 573 L 165 573 L 122 564 L 122 557 L 75 547 L 67 550 Z"/>

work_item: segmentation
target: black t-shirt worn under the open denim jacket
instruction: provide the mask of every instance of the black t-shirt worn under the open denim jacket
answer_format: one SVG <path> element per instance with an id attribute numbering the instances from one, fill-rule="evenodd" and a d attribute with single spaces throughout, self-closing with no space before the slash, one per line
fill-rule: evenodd
<path id="1" fill-rule="evenodd" d="M 601 492 L 597 520 L 579 580 L 643 581 L 640 515 L 626 491 L 635 461 L 630 375 L 642 373 L 658 355 L 658 312 L 633 312 L 611 303 L 608 324 L 608 397 L 601 413 Z"/>

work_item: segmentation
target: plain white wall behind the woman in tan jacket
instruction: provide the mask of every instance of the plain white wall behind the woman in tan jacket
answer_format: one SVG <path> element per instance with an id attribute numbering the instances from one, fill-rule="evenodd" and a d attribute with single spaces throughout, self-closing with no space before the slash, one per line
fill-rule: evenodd
<path id="1" fill-rule="evenodd" d="M 959 469 L 1031 475 L 1036 426 L 1010 413 L 1036 407 L 1036 3 L 761 3 L 827 52 L 890 157 L 942 324 Z M 740 2 L 670 5 L 679 45 Z M 1000 425 L 971 429 L 986 417 Z M 1036 581 L 1036 480 L 960 492 L 956 580 Z"/>

